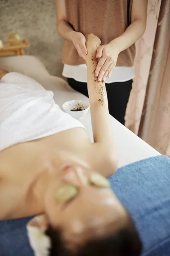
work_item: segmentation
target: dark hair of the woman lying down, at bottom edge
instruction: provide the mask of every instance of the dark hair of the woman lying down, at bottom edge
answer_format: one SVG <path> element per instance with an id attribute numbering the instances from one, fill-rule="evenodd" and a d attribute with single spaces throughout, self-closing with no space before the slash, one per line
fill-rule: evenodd
<path id="1" fill-rule="evenodd" d="M 88 241 L 76 253 L 65 247 L 61 231 L 49 226 L 46 235 L 51 238 L 50 256 L 139 256 L 142 252 L 142 242 L 129 215 L 125 227 L 110 236 Z"/>

